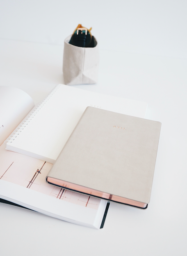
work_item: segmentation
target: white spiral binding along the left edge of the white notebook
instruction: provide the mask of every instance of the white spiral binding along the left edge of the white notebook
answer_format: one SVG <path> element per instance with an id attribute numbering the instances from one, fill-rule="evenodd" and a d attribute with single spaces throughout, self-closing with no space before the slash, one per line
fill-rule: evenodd
<path id="1" fill-rule="evenodd" d="M 49 99 L 55 94 L 55 92 L 59 89 L 60 85 L 57 85 L 49 94 L 48 96 L 46 96 L 45 99 L 43 99 L 43 101 L 41 101 L 41 103 L 39 103 L 39 105 L 34 108 L 34 110 L 32 111 L 32 113 L 30 113 L 30 115 L 28 115 L 26 117 L 26 119 L 21 122 L 21 124 L 19 124 L 19 126 L 14 130 L 14 132 L 12 132 L 12 134 L 6 139 L 5 143 L 7 144 L 12 143 L 17 136 L 20 135 L 20 133 L 25 129 L 25 127 L 27 127 L 27 125 L 32 122 L 33 118 L 38 114 L 38 112 L 41 110 L 41 108 L 43 108 L 43 106 L 45 106 L 45 104 L 49 101 Z"/>

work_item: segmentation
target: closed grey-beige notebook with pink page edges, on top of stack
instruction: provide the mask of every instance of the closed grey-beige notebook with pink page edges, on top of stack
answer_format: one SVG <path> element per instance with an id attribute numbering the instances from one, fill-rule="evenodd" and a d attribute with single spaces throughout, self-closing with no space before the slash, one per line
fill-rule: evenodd
<path id="1" fill-rule="evenodd" d="M 161 123 L 87 107 L 46 181 L 146 208 Z"/>

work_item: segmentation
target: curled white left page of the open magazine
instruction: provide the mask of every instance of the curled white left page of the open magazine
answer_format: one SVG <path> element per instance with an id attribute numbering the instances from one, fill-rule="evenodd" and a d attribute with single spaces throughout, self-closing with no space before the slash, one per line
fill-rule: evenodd
<path id="1" fill-rule="evenodd" d="M 21 89 L 0 86 L 0 145 L 34 107 L 32 98 Z"/>

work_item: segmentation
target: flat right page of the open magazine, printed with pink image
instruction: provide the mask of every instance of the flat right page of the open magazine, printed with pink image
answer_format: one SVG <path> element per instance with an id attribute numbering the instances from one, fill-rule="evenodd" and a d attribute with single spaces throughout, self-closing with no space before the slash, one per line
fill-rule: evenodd
<path id="1" fill-rule="evenodd" d="M 52 164 L 0 146 L 0 197 L 65 221 L 94 225 L 107 201 L 46 183 Z M 99 228 L 99 226 L 98 226 Z"/>

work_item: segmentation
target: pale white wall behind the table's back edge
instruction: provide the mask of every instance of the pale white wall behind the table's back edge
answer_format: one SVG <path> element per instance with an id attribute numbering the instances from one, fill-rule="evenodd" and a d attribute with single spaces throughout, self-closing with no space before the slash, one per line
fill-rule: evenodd
<path id="1" fill-rule="evenodd" d="M 0 38 L 63 44 L 78 23 L 101 49 L 187 58 L 186 0 L 0 0 Z"/>

